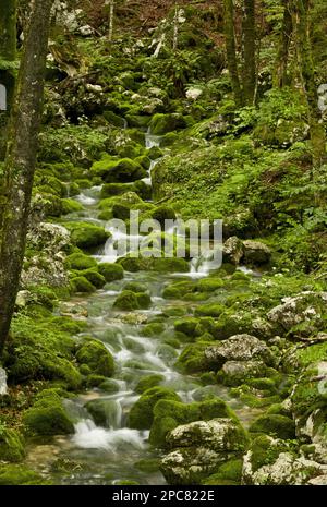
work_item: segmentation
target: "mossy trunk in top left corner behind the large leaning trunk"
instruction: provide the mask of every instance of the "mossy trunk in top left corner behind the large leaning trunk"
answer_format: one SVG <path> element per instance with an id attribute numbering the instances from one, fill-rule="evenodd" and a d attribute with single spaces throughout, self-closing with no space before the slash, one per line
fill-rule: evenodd
<path id="1" fill-rule="evenodd" d="M 5 153 L 5 133 L 13 101 L 15 79 L 12 62 L 16 58 L 16 0 L 1 0 L 0 5 L 0 84 L 5 87 L 7 110 L 0 111 L 0 160 Z"/>

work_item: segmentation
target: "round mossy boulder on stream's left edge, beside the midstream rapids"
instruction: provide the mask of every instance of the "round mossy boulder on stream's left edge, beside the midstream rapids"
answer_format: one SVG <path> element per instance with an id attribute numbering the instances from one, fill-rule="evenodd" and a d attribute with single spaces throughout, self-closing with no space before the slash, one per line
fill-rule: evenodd
<path id="1" fill-rule="evenodd" d="M 93 373 L 110 377 L 113 374 L 113 358 L 105 345 L 96 339 L 85 340 L 77 349 L 76 359 L 86 364 Z"/>

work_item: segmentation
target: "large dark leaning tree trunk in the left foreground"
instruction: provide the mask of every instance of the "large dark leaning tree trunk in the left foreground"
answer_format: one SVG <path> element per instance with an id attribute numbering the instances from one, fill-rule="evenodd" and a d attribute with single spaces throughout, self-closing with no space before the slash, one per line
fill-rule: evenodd
<path id="1" fill-rule="evenodd" d="M 0 188 L 0 353 L 9 333 L 24 258 L 51 5 L 52 0 L 34 0 L 9 125 Z"/>

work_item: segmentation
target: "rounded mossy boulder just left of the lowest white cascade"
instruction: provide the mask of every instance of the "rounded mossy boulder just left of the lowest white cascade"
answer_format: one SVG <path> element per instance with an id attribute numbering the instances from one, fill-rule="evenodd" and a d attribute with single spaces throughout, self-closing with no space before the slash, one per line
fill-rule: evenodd
<path id="1" fill-rule="evenodd" d="M 38 396 L 33 407 L 24 412 L 23 422 L 27 430 L 36 435 L 74 433 L 73 421 L 53 389 L 46 389 Z"/>

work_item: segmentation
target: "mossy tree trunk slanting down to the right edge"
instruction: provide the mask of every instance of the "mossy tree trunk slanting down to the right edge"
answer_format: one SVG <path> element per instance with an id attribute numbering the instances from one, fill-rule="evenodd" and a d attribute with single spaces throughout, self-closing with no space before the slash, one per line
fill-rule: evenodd
<path id="1" fill-rule="evenodd" d="M 308 106 L 310 137 L 314 168 L 326 162 L 326 135 L 318 107 L 317 84 L 311 43 L 311 0 L 292 0 L 292 19 L 295 31 L 296 53 L 303 90 Z"/>

